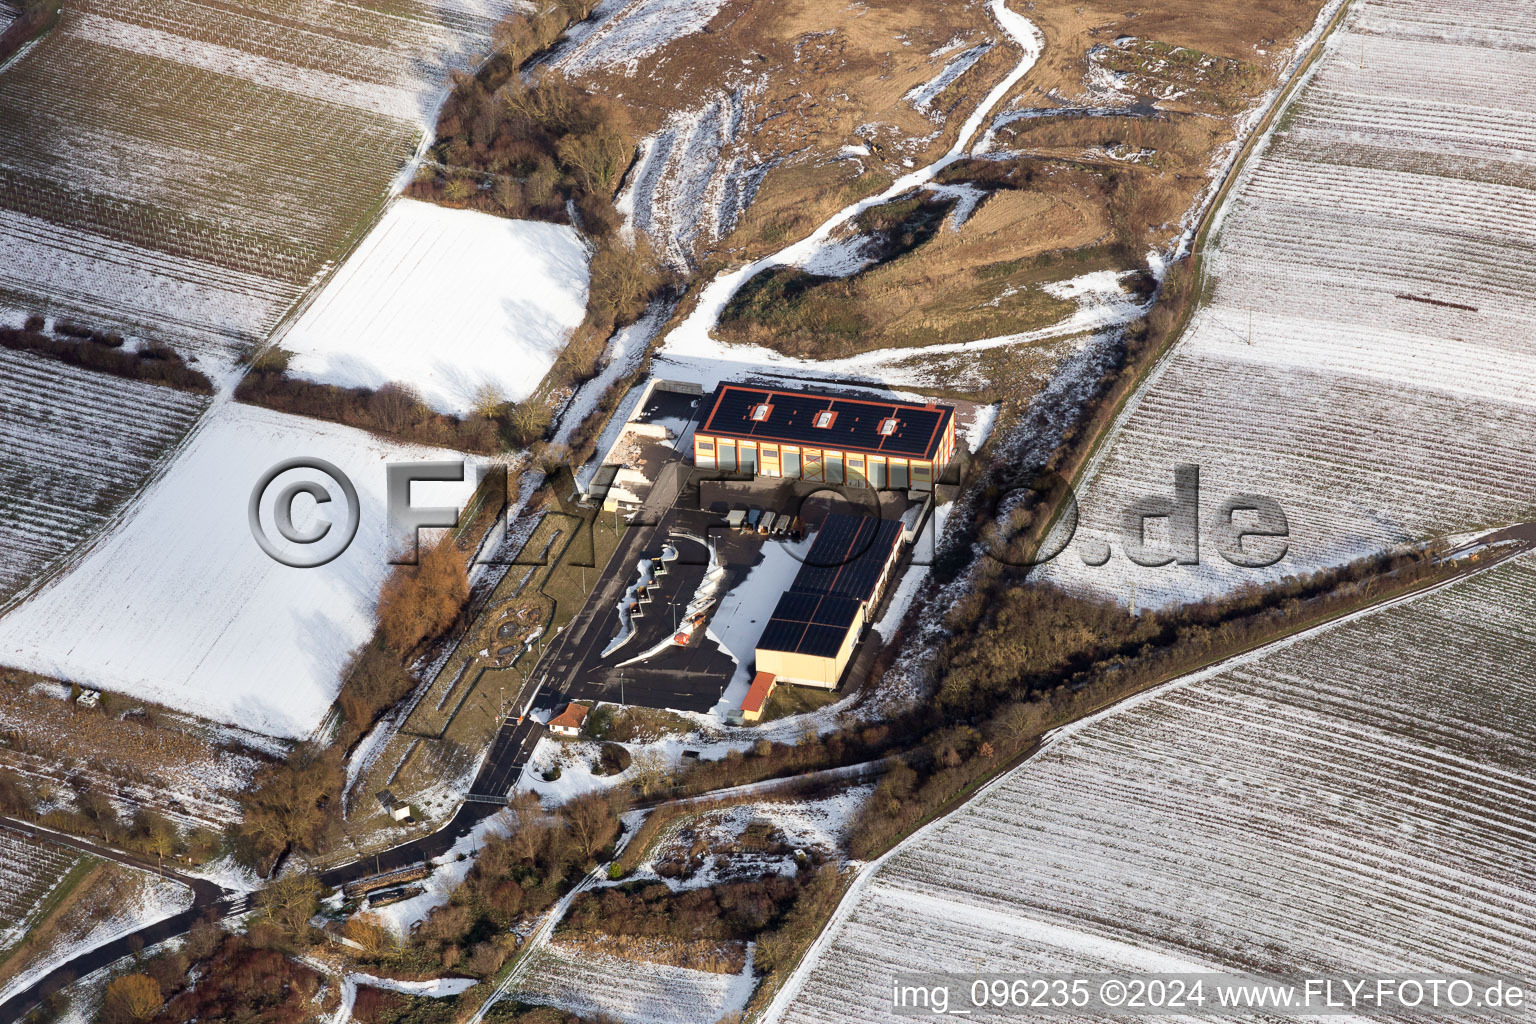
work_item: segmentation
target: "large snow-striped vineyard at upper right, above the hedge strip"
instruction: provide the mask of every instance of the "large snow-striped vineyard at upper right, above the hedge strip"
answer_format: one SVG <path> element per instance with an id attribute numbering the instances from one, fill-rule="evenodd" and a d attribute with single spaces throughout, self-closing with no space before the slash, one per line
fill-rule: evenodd
<path id="1" fill-rule="evenodd" d="M 1166 603 L 1530 517 L 1536 485 L 1536 9 L 1362 0 L 1212 232 L 1213 295 L 1083 488 L 1058 582 Z M 1361 61 L 1364 58 L 1364 66 Z M 1203 563 L 1138 568 L 1121 514 L 1201 468 Z M 1215 550 L 1232 494 L 1287 557 Z"/>

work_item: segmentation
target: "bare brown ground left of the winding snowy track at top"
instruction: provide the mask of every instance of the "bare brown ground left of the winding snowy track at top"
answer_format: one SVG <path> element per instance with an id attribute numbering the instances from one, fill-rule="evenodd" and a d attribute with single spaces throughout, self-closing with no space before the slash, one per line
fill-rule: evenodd
<path id="1" fill-rule="evenodd" d="M 943 152 L 980 97 L 1018 60 L 1000 37 L 983 0 L 731 0 L 703 31 L 671 41 L 633 71 L 617 66 L 578 81 L 622 94 L 637 135 L 736 94 L 740 130 L 722 146 L 719 166 L 740 160 L 765 177 L 734 226 L 727 218 L 727 236 L 696 239 L 694 255 L 754 258 L 886 187 L 903 161 L 926 163 Z M 949 43 L 954 49 L 934 57 Z M 988 43 L 995 45 L 926 112 L 905 98 L 960 52 Z M 871 155 L 840 155 L 862 143 Z"/>

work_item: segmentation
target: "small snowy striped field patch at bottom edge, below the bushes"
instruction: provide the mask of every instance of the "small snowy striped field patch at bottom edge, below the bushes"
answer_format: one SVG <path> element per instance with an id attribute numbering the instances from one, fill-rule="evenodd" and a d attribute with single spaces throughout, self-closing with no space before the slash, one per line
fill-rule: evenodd
<path id="1" fill-rule="evenodd" d="M 717 975 L 550 943 L 536 952 L 515 995 L 625 1024 L 716 1024 L 746 1006 L 754 984 L 750 956 L 742 973 Z"/>

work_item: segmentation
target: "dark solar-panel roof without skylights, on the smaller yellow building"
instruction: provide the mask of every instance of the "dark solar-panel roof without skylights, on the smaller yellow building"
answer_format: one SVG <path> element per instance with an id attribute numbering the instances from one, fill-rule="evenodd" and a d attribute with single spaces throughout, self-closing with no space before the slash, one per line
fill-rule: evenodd
<path id="1" fill-rule="evenodd" d="M 816 657 L 837 654 L 900 537 L 900 520 L 828 516 L 757 646 Z"/>

